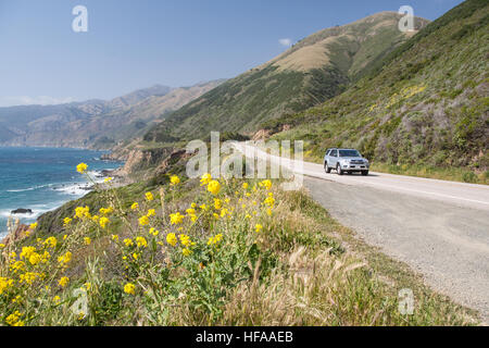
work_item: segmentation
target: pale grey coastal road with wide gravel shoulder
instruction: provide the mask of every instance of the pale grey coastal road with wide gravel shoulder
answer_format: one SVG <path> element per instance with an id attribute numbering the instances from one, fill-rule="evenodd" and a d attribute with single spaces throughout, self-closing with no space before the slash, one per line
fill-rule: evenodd
<path id="1" fill-rule="evenodd" d="M 261 159 L 305 174 L 304 186 L 341 224 L 406 262 L 436 290 L 489 323 L 489 187 L 384 173 L 326 174 L 319 164 Z"/>

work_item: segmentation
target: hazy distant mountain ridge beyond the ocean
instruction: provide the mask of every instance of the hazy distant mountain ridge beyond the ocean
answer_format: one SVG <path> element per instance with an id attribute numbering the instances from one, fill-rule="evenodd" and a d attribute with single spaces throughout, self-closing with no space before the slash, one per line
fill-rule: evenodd
<path id="1" fill-rule="evenodd" d="M 222 82 L 180 88 L 155 85 L 108 101 L 0 108 L 0 145 L 109 149 L 141 136 L 154 122 Z"/>

